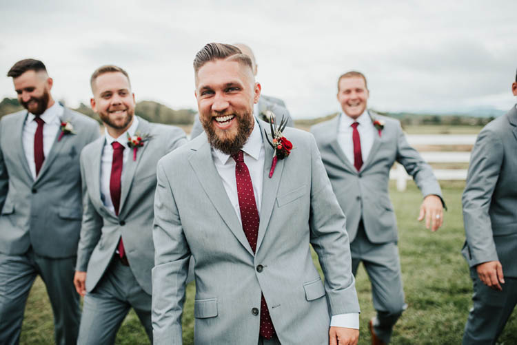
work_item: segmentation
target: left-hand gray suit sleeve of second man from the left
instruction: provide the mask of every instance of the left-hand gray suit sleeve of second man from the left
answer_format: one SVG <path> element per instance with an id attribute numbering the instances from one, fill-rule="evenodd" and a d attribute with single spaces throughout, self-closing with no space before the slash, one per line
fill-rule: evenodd
<path id="1" fill-rule="evenodd" d="M 84 155 L 81 154 L 81 184 L 83 189 L 83 220 L 81 222 L 81 233 L 77 247 L 76 271 L 85 272 L 88 269 L 88 262 L 92 251 L 101 238 L 103 219 L 93 207 L 88 194 L 85 182 Z"/>

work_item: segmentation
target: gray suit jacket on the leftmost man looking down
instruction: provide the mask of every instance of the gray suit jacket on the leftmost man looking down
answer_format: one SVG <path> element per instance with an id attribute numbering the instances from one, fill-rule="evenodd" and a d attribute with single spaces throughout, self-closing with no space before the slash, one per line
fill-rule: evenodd
<path id="1" fill-rule="evenodd" d="M 34 180 L 22 143 L 27 115 L 23 110 L 0 121 L 0 252 L 17 255 L 32 247 L 48 258 L 74 256 L 82 215 L 79 154 L 99 136 L 99 124 L 65 108 L 61 121 L 75 134 L 57 141 L 58 131 Z"/>

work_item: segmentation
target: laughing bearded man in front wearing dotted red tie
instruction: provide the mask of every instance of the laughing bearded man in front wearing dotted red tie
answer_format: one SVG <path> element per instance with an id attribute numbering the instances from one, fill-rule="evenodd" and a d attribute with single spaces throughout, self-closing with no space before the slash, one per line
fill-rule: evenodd
<path id="1" fill-rule="evenodd" d="M 345 217 L 314 138 L 285 128 L 295 149 L 270 169 L 270 126 L 253 116 L 261 85 L 250 58 L 209 43 L 194 75 L 206 135 L 156 168 L 154 344 L 182 342 L 191 256 L 196 344 L 357 344 Z"/>

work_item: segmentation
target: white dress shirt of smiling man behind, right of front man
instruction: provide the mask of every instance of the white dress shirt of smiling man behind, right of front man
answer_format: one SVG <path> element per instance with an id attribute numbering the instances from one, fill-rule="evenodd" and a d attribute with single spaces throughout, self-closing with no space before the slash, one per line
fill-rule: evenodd
<path id="1" fill-rule="evenodd" d="M 365 110 L 356 120 L 341 113 L 339 115 L 339 128 L 338 128 L 338 144 L 343 150 L 343 153 L 347 157 L 350 163 L 354 165 L 354 140 L 352 140 L 352 123 L 357 122 L 357 131 L 359 132 L 359 138 L 361 141 L 361 156 L 363 156 L 363 163 L 366 162 L 369 151 L 374 145 L 374 135 L 376 129 L 372 123 L 372 118 L 369 117 L 368 111 Z"/>

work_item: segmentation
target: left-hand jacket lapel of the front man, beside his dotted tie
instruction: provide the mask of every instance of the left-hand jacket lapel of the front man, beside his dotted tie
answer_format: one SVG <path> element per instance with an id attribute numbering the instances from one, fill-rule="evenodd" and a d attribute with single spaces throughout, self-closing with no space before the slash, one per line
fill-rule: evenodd
<path id="1" fill-rule="evenodd" d="M 250 243 L 247 242 L 242 224 L 239 222 L 239 218 L 226 194 L 219 173 L 214 165 L 210 144 L 206 140 L 199 140 L 199 142 L 202 145 L 200 145 L 199 149 L 192 149 L 196 152 L 190 156 L 189 163 L 219 216 L 223 218 L 227 227 L 230 228 L 230 231 L 234 233 L 234 236 L 241 242 L 243 247 L 250 254 L 255 255 L 250 247 Z"/>

